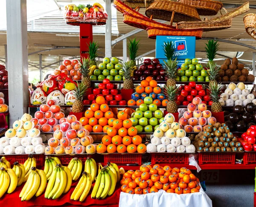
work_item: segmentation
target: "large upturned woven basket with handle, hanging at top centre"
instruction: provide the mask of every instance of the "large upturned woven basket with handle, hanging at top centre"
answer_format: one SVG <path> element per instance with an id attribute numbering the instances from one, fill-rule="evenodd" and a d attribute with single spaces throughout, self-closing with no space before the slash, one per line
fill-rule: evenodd
<path id="1" fill-rule="evenodd" d="M 147 17 L 154 19 L 166 20 L 172 22 L 192 22 L 201 21 L 197 10 L 189 5 L 177 3 L 169 0 L 154 0 L 146 9 Z"/>

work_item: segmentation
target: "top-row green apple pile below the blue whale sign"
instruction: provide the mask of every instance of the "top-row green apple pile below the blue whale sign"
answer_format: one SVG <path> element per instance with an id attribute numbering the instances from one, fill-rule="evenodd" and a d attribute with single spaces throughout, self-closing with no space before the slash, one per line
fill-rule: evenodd
<path id="1" fill-rule="evenodd" d="M 204 70 L 203 65 L 198 63 L 198 59 L 185 59 L 177 71 L 176 81 L 181 82 L 209 82 L 207 70 Z"/>

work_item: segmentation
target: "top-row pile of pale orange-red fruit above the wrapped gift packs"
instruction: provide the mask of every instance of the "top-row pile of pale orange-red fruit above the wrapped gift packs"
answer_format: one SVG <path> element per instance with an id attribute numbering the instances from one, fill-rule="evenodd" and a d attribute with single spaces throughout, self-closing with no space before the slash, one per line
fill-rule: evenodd
<path id="1" fill-rule="evenodd" d="M 53 71 L 53 74 L 59 75 L 61 73 L 64 73 L 73 80 L 81 80 L 82 74 L 80 72 L 81 64 L 77 59 L 73 60 L 63 60 L 63 65 L 60 65 L 58 69 L 55 69 Z M 61 80 L 59 77 L 57 77 L 57 80 Z"/>

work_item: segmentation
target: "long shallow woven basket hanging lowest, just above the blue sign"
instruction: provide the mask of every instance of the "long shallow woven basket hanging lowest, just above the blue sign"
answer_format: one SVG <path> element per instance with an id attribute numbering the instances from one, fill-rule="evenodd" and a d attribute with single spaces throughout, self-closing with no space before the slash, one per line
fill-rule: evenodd
<path id="1" fill-rule="evenodd" d="M 203 30 L 202 29 L 172 29 L 172 28 L 147 28 L 148 38 L 156 39 L 157 36 L 195 36 L 196 39 L 201 39 Z"/>

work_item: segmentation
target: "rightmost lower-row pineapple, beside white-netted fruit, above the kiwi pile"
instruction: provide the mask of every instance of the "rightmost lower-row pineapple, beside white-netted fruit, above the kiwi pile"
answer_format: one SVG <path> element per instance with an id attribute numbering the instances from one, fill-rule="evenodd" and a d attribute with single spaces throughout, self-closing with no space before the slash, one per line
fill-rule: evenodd
<path id="1" fill-rule="evenodd" d="M 220 94 L 221 94 L 221 85 L 218 85 L 218 83 L 215 81 L 209 82 L 209 91 L 210 91 L 210 96 L 212 98 L 211 111 L 221 112 L 222 107 L 221 107 L 221 103 L 219 102 Z"/>

